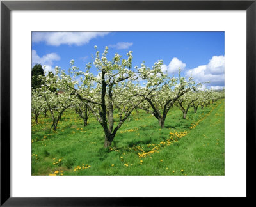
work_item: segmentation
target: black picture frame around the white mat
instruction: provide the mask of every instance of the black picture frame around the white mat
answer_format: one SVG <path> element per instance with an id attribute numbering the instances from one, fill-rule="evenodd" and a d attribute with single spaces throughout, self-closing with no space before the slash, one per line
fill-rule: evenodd
<path id="1" fill-rule="evenodd" d="M 145 206 L 156 197 L 10 197 L 10 12 L 12 10 L 246 10 L 246 198 L 255 165 L 256 0 L 250 1 L 1 1 L 1 206 Z M 239 170 L 239 166 L 237 166 Z M 252 190 L 250 190 L 252 189 Z"/>

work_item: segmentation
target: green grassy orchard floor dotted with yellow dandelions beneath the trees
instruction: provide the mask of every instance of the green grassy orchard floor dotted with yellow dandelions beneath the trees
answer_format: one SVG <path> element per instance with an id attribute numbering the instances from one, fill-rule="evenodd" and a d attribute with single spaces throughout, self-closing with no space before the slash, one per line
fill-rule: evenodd
<path id="1" fill-rule="evenodd" d="M 32 175 L 224 175 L 224 107 L 219 100 L 204 109 L 193 108 L 187 119 L 173 107 L 165 128 L 147 112 L 132 112 L 110 148 L 91 116 L 88 126 L 71 109 L 57 132 L 51 119 L 32 121 Z"/>

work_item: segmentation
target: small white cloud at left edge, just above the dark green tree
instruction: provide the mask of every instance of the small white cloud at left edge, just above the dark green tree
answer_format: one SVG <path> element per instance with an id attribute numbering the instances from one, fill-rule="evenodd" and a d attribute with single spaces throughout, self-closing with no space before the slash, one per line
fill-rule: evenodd
<path id="1" fill-rule="evenodd" d="M 54 71 L 54 69 L 52 68 L 53 62 L 58 60 L 60 60 L 60 56 L 58 56 L 58 54 L 56 53 L 49 53 L 40 57 L 36 53 L 36 50 L 32 50 L 32 67 L 35 64 L 41 64 L 42 66 L 45 65 L 45 72 Z"/>

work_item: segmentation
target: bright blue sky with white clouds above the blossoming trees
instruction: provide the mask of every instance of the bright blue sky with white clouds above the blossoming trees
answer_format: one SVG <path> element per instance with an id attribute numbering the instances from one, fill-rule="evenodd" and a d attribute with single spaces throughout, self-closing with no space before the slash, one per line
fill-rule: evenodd
<path id="1" fill-rule="evenodd" d="M 151 67 L 163 59 L 163 72 L 170 76 L 177 76 L 182 68 L 182 75 L 192 72 L 196 82 L 210 81 L 207 88 L 224 86 L 224 32 L 33 32 L 32 67 L 40 63 L 46 71 L 60 66 L 67 72 L 74 59 L 74 65 L 83 70 L 93 62 L 94 45 L 100 54 L 108 46 L 109 60 L 115 53 L 126 58 L 131 50 L 133 66 L 145 61 Z"/>

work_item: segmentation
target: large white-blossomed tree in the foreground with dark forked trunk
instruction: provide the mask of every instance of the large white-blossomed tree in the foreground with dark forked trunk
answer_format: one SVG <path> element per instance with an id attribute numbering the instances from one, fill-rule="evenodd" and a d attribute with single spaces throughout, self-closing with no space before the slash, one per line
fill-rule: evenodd
<path id="1" fill-rule="evenodd" d="M 97 50 L 97 47 L 95 46 Z M 144 102 L 152 91 L 163 82 L 163 72 L 161 65 L 163 61 L 157 61 L 152 68 L 148 68 L 144 63 L 141 67 L 132 68 L 132 52 L 127 53 L 127 59 L 123 59 L 119 54 L 115 54 L 111 61 L 107 59 L 108 47 L 100 57 L 96 51 L 93 64 L 98 70 L 95 75 L 90 72 L 91 63 L 86 65 L 86 71 L 77 71 L 79 68 L 72 66 L 70 74 L 82 77 L 77 82 L 74 77 L 63 73 L 63 80 L 66 83 L 66 90 L 71 95 L 76 96 L 88 105 L 92 114 L 97 118 L 105 134 L 104 146 L 111 145 L 116 132 L 122 124 L 129 118 L 131 112 Z M 70 62 L 74 65 L 74 61 Z M 147 79 L 147 88 L 143 88 L 134 81 Z M 77 86 L 76 86 L 77 85 Z M 87 93 L 81 93 L 79 88 L 88 88 Z M 91 87 L 93 86 L 93 87 Z M 114 111 L 118 111 L 118 121 L 113 118 Z"/>

